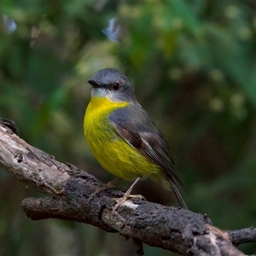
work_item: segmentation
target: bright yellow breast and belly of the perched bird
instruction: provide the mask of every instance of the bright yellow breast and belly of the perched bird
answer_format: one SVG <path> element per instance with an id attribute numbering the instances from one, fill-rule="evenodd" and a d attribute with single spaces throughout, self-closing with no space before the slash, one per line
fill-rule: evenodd
<path id="1" fill-rule="evenodd" d="M 117 177 L 133 180 L 159 172 L 159 166 L 119 137 L 108 121 L 110 113 L 128 105 L 128 102 L 111 102 L 108 98 L 92 98 L 84 115 L 84 136 L 104 169 Z"/>

